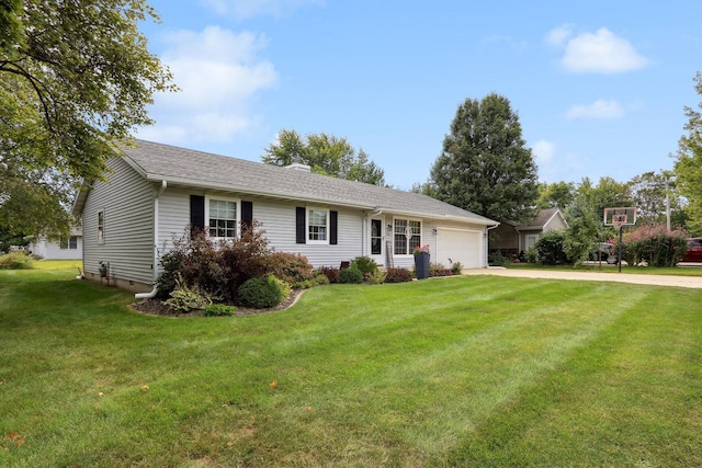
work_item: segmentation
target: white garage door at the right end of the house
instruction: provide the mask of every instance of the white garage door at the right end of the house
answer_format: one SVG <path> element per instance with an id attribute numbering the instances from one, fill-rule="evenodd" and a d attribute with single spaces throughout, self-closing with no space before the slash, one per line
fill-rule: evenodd
<path id="1" fill-rule="evenodd" d="M 446 267 L 461 262 L 464 269 L 479 269 L 483 264 L 483 232 L 460 229 L 437 230 L 437 261 Z M 451 259 L 451 260 L 449 260 Z"/>

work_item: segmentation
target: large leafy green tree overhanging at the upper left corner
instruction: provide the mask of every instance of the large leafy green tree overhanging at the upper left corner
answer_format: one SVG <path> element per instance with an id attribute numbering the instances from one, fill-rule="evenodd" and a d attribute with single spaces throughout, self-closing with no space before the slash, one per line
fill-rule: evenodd
<path id="1" fill-rule="evenodd" d="M 152 123 L 152 94 L 174 87 L 138 31 L 147 19 L 158 16 L 145 0 L 2 2 L 0 222 L 65 232 L 75 182 L 102 178 L 116 145 Z M 26 222 L 21 210 L 42 199 Z"/>

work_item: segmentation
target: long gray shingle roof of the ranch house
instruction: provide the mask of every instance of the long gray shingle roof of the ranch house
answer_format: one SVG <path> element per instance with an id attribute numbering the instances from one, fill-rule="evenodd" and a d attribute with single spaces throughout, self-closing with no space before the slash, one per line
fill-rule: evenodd
<path id="1" fill-rule="evenodd" d="M 432 218 L 497 222 L 426 195 L 137 140 L 124 152 L 148 180 L 273 198 L 317 202 Z"/>

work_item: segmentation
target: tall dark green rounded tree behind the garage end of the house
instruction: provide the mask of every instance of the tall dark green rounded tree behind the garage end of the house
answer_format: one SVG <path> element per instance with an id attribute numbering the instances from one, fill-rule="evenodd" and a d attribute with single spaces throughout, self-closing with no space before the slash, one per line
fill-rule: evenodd
<path id="1" fill-rule="evenodd" d="M 424 192 L 492 219 L 533 216 L 536 164 L 506 98 L 492 93 L 458 106 Z"/>

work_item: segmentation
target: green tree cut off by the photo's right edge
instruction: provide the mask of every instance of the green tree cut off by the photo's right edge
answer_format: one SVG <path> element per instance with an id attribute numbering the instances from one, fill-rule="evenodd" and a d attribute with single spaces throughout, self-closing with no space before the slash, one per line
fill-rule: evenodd
<path id="1" fill-rule="evenodd" d="M 694 77 L 694 89 L 702 94 L 702 73 Z M 702 102 L 698 104 L 702 109 Z M 680 194 L 688 199 L 688 229 L 694 235 L 702 233 L 702 113 L 692 107 L 684 107 L 689 118 L 684 126 L 688 132 L 680 138 L 675 173 Z"/>

